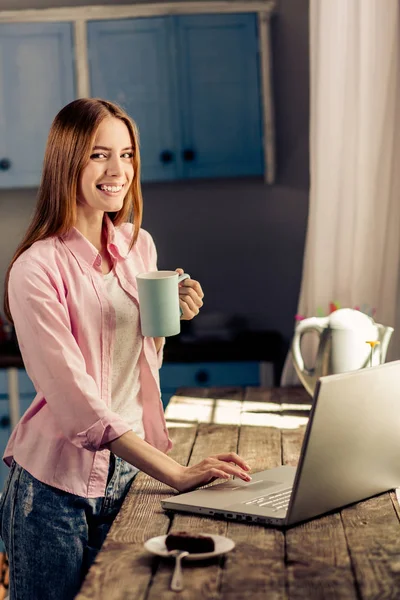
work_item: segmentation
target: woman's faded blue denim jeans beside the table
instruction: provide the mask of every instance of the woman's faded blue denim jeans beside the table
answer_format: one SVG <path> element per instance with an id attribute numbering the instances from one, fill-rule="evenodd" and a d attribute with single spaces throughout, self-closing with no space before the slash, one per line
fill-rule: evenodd
<path id="1" fill-rule="evenodd" d="M 13 461 L 0 501 L 10 600 L 72 600 L 138 470 L 110 455 L 105 497 L 82 498 L 41 483 Z"/>

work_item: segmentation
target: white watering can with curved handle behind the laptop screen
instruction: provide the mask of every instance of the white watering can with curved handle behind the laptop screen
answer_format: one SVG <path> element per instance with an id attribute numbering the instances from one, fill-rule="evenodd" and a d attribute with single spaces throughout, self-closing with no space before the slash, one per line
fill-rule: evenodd
<path id="1" fill-rule="evenodd" d="M 317 332 L 320 337 L 315 366 L 308 369 L 301 352 L 301 339 L 309 332 Z M 296 373 L 312 396 L 322 375 L 384 363 L 392 333 L 393 327 L 375 323 L 368 315 L 352 308 L 340 308 L 328 317 L 303 319 L 296 326 L 292 342 Z"/>

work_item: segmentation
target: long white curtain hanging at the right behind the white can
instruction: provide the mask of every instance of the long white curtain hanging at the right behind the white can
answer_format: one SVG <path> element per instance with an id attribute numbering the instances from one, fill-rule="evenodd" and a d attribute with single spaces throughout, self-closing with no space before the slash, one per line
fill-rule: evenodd
<path id="1" fill-rule="evenodd" d="M 399 0 L 310 0 L 311 188 L 298 305 L 307 317 L 327 314 L 331 301 L 376 309 L 377 322 L 396 328 L 389 359 L 400 358 L 399 15 Z M 293 383 L 288 356 L 282 385 Z"/>

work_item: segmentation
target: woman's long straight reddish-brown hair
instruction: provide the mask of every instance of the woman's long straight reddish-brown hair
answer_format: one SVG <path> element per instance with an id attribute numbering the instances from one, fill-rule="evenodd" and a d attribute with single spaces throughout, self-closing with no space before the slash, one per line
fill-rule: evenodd
<path id="1" fill-rule="evenodd" d="M 55 117 L 47 139 L 35 212 L 19 244 L 5 279 L 4 312 L 12 321 L 8 299 L 11 267 L 38 240 L 68 233 L 76 221 L 76 198 L 82 170 L 87 165 L 97 129 L 107 117 L 121 119 L 133 146 L 134 175 L 120 211 L 108 213 L 114 225 L 134 223 L 131 247 L 142 223 L 139 134 L 135 122 L 117 104 L 99 98 L 80 98 L 67 104 Z"/>

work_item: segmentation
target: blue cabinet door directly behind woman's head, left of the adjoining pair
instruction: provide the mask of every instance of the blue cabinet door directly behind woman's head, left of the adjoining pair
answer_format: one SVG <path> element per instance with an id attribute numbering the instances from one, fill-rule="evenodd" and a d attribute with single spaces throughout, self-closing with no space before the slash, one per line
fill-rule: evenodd
<path id="1" fill-rule="evenodd" d="M 168 17 L 88 24 L 91 95 L 117 102 L 137 123 L 143 181 L 178 176 L 171 27 Z"/>

